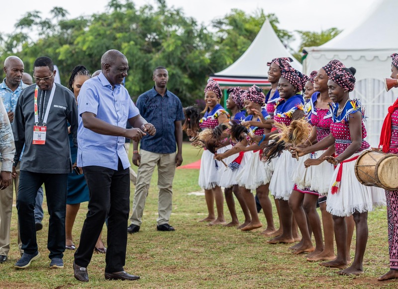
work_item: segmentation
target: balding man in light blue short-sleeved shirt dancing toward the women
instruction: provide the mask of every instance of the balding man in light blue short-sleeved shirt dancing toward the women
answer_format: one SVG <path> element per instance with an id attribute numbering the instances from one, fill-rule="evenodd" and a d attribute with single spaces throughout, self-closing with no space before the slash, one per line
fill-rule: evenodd
<path id="1" fill-rule="evenodd" d="M 124 272 L 127 247 L 127 219 L 130 200 L 130 162 L 125 138 L 138 142 L 155 135 L 155 127 L 139 114 L 128 91 L 121 85 L 128 62 L 117 50 L 101 57 L 101 73 L 87 80 L 79 93 L 77 165 L 83 167 L 90 190 L 89 212 L 80 236 L 73 264 L 77 280 L 88 282 L 87 266 L 108 216 L 105 279 L 137 280 Z M 127 121 L 133 127 L 126 129 Z"/>

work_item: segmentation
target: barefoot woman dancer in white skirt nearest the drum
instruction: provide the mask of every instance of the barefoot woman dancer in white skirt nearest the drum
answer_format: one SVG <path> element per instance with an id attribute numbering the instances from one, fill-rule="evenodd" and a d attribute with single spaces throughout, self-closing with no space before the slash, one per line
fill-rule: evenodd
<path id="1" fill-rule="evenodd" d="M 295 148 L 298 155 L 303 155 L 335 145 L 337 156 L 325 156 L 325 159 L 337 166 L 326 200 L 326 210 L 333 215 L 337 257 L 320 265 L 343 269 L 339 271 L 340 275 L 363 273 L 362 262 L 368 241 L 368 211 L 385 203 L 383 190 L 362 185 L 354 174 L 354 160 L 370 147 L 364 140 L 366 129 L 361 103 L 349 99 L 349 92 L 354 90 L 355 85 L 354 73 L 354 68 L 336 68 L 329 75 L 329 97 L 336 104 L 330 106 L 333 119 L 330 135 L 309 147 Z M 346 268 L 347 227 L 344 217 L 351 214 L 356 226 L 356 249 L 353 263 Z"/>

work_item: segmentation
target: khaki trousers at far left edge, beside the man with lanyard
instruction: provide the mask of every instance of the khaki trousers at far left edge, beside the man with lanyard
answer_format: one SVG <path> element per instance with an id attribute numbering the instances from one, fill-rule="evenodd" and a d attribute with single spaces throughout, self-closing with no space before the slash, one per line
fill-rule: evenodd
<path id="1" fill-rule="evenodd" d="M 15 199 L 18 196 L 19 186 L 19 163 L 15 167 L 18 176 L 12 179 L 11 184 L 4 190 L 0 191 L 0 255 L 8 256 L 9 252 L 9 236 L 11 228 L 11 213 L 12 213 L 12 197 L 15 189 Z M 23 253 L 21 249 L 22 242 L 19 237 L 18 224 L 18 248 L 19 253 Z"/>

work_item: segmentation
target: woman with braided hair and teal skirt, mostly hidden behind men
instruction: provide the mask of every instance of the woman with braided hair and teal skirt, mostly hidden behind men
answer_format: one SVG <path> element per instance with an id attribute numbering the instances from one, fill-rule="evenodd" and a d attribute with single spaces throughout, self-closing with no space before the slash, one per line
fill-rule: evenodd
<path id="1" fill-rule="evenodd" d="M 83 83 L 90 78 L 90 72 L 83 65 L 76 66 L 69 78 L 68 88 L 74 93 L 76 103 L 80 88 Z M 78 148 L 73 144 L 73 136 L 69 134 L 69 142 L 71 146 L 72 160 L 76 160 Z M 83 174 L 77 175 L 75 172 L 68 174 L 68 187 L 66 199 L 66 216 L 65 216 L 65 235 L 66 235 L 66 249 L 75 250 L 76 246 L 73 244 L 72 229 L 75 223 L 76 215 L 80 208 L 80 203 L 89 201 L 89 188 L 86 184 L 86 179 Z M 106 253 L 106 248 L 100 237 L 97 240 L 95 251 L 98 253 Z"/>

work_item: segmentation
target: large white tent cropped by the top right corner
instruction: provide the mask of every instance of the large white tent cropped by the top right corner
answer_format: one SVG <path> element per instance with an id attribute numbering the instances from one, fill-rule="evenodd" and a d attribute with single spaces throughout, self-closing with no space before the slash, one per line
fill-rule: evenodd
<path id="1" fill-rule="evenodd" d="M 379 136 L 387 108 L 398 96 L 398 89 L 386 92 L 384 78 L 390 77 L 391 57 L 398 53 L 398 0 L 379 0 L 362 21 L 319 47 L 305 47 L 304 73 L 318 70 L 332 59 L 339 59 L 347 67 L 355 67 L 355 90 L 351 98 L 358 98 L 366 108 L 367 140 L 379 144 Z"/>

